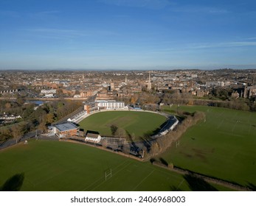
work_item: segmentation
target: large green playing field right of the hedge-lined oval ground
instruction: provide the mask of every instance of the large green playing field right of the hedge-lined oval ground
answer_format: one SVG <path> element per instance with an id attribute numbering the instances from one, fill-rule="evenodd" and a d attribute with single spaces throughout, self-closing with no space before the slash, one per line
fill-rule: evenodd
<path id="1" fill-rule="evenodd" d="M 162 107 L 176 112 L 176 106 Z M 175 166 L 256 188 L 256 113 L 219 107 L 182 106 L 203 111 L 206 121 L 190 127 L 161 157 Z"/>

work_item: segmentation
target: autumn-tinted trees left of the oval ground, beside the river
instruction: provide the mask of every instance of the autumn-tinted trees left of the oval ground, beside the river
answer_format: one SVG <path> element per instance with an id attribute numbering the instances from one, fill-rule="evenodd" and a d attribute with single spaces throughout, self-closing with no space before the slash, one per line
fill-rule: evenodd
<path id="1" fill-rule="evenodd" d="M 13 114 L 21 119 L 13 124 L 1 125 L 0 141 L 9 138 L 20 138 L 34 129 L 46 131 L 47 126 L 69 115 L 82 105 L 70 100 L 45 102 L 42 106 L 18 101 L 0 101 L 0 114 Z"/>

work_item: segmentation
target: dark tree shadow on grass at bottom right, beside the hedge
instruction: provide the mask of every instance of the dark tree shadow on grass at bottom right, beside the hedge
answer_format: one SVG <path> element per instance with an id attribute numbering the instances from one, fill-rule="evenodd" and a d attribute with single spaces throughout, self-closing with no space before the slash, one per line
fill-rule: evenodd
<path id="1" fill-rule="evenodd" d="M 183 177 L 192 191 L 218 191 L 215 187 L 201 178 L 195 177 L 191 174 L 185 174 Z"/>

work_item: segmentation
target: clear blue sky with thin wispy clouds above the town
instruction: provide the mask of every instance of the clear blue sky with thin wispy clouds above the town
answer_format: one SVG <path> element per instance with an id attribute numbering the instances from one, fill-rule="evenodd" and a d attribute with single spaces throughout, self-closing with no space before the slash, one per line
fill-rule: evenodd
<path id="1" fill-rule="evenodd" d="M 0 0 L 0 69 L 256 68 L 256 1 Z"/>

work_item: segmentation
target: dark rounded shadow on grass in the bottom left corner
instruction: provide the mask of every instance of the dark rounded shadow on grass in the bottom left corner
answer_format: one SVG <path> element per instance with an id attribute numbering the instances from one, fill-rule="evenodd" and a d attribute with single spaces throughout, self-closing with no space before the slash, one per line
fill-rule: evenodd
<path id="1" fill-rule="evenodd" d="M 13 175 L 13 177 L 10 177 L 6 182 L 4 182 L 0 191 L 20 191 L 24 182 L 24 176 L 24 173 Z"/>

